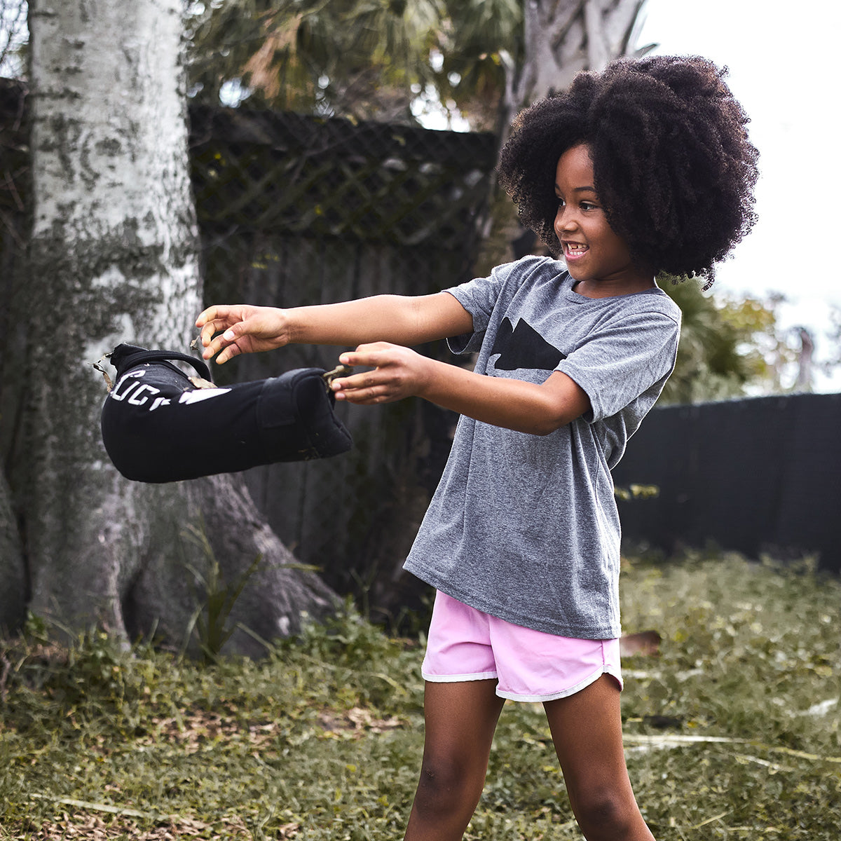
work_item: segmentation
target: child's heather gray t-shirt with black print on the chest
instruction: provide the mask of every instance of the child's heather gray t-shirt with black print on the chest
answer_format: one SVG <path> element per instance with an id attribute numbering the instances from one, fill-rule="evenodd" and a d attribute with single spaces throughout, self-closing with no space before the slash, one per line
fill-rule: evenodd
<path id="1" fill-rule="evenodd" d="M 462 417 L 405 569 L 516 625 L 620 636 L 613 468 L 674 368 L 680 309 L 659 288 L 590 299 L 563 263 L 524 257 L 448 289 L 473 316 L 450 340 L 489 377 L 573 378 L 592 409 L 547 436 Z"/>

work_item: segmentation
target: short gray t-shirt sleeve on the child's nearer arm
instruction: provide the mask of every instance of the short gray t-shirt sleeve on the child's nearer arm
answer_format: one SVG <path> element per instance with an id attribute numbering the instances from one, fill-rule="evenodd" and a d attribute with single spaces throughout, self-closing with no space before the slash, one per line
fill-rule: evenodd
<path id="1" fill-rule="evenodd" d="M 674 368 L 680 320 L 663 312 L 627 315 L 605 325 L 558 363 L 590 398 L 585 421 L 616 415 Z"/>

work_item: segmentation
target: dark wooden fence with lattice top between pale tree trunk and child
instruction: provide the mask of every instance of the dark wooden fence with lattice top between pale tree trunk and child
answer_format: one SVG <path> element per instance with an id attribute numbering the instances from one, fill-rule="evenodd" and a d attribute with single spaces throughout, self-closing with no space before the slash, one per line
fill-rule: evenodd
<path id="1" fill-rule="evenodd" d="M 426 294 L 470 276 L 492 135 L 199 108 L 191 145 L 208 300 L 319 304 Z M 447 356 L 443 346 L 425 351 Z M 331 368 L 339 352 L 294 346 L 244 357 L 235 377 Z M 395 578 L 455 418 L 414 400 L 339 411 L 351 453 L 259 468 L 246 481 L 301 561 L 397 611 Z"/>

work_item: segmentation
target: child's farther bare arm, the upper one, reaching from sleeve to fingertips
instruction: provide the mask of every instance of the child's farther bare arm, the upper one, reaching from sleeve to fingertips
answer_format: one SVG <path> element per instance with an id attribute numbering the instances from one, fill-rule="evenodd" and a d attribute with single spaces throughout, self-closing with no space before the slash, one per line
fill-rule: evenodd
<path id="1" fill-rule="evenodd" d="M 294 309 L 248 304 L 212 306 L 198 316 L 205 359 L 227 362 L 240 353 L 288 344 L 357 346 L 390 341 L 410 346 L 473 330 L 473 317 L 447 292 L 406 297 L 375 295 L 341 304 Z"/>

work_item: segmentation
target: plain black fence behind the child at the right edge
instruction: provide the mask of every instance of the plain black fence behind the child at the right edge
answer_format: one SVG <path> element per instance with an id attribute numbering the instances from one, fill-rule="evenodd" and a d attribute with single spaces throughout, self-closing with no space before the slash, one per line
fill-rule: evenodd
<path id="1" fill-rule="evenodd" d="M 841 394 L 792 394 L 655 409 L 628 442 L 622 531 L 666 551 L 714 542 L 757 558 L 817 556 L 841 570 Z"/>

